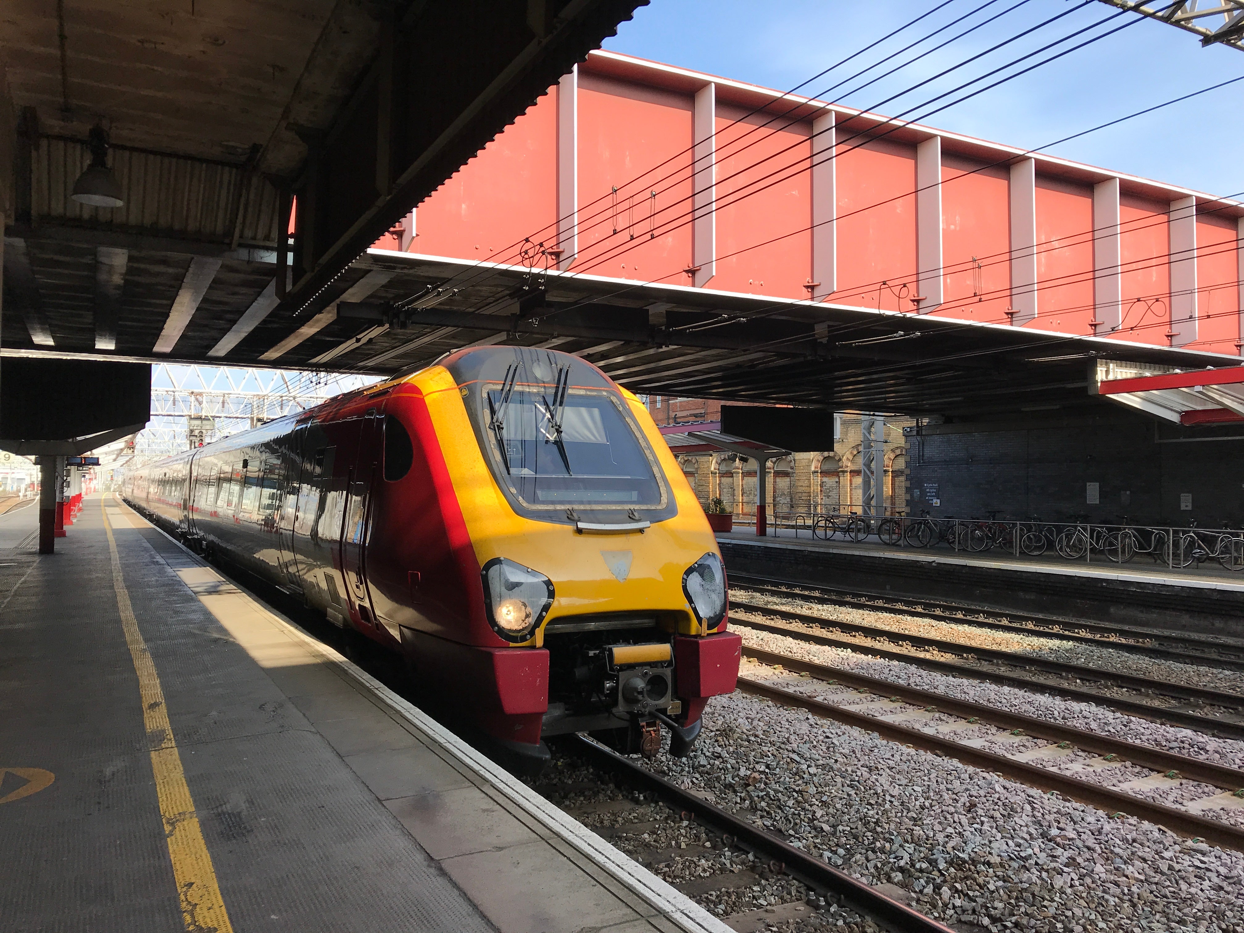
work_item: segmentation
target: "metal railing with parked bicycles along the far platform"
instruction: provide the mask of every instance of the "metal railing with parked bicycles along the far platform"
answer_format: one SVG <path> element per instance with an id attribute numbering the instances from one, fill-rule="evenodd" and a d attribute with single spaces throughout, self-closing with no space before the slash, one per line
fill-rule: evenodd
<path id="1" fill-rule="evenodd" d="M 1244 570 L 1244 530 L 1173 527 L 1154 525 L 1096 525 L 1084 521 L 995 521 L 933 519 L 898 515 L 873 519 L 862 515 L 779 513 L 771 526 L 807 532 L 822 541 L 843 539 L 882 544 L 984 554 L 1001 551 L 1014 557 L 1040 557 L 1047 552 L 1069 561 L 1127 564 L 1148 560 L 1171 570 L 1203 564 L 1230 571 Z"/>

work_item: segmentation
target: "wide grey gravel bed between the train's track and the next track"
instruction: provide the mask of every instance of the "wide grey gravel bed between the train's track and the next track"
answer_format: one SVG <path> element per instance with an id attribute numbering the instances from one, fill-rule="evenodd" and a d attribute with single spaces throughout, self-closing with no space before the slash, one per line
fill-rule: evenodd
<path id="1" fill-rule="evenodd" d="M 944 922 L 1244 931 L 1239 853 L 740 693 L 704 722 L 648 766 Z"/>

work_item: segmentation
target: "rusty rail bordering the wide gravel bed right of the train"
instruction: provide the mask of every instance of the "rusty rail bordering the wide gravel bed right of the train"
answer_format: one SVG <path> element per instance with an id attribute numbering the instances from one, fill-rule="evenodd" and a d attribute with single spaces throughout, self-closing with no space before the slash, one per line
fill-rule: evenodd
<path id="1" fill-rule="evenodd" d="M 866 731 L 877 733 L 883 739 L 912 745 L 924 751 L 937 751 L 947 758 L 953 758 L 963 764 L 980 768 L 985 771 L 996 771 L 1006 778 L 1037 787 L 1040 790 L 1056 791 L 1065 797 L 1081 804 L 1095 806 L 1110 814 L 1128 814 L 1148 822 L 1164 826 L 1172 832 L 1193 838 L 1203 838 L 1215 846 L 1244 851 L 1244 830 L 1237 830 L 1225 822 L 1210 820 L 1205 816 L 1189 814 L 1186 810 L 1176 810 L 1162 804 L 1153 804 L 1131 794 L 1110 790 L 1097 784 L 1081 781 L 1077 778 L 1069 778 L 1057 771 L 1050 771 L 1026 761 L 1016 761 L 1005 755 L 995 755 L 991 751 L 982 751 L 970 745 L 963 745 L 953 739 L 943 739 L 940 735 L 931 735 L 921 729 L 912 729 L 898 723 L 887 723 L 883 719 L 856 713 L 832 703 L 822 703 L 811 697 L 802 697 L 779 687 L 770 687 L 759 680 L 745 677 L 739 678 L 739 687 L 748 693 L 765 697 L 776 703 L 789 707 L 806 709 L 819 717 L 833 719 L 846 725 L 853 725 Z"/>

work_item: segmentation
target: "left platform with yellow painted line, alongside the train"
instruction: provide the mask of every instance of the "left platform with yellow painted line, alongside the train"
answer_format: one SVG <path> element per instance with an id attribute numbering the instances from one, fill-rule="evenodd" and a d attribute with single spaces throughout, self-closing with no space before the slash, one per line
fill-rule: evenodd
<path id="1" fill-rule="evenodd" d="M 726 929 L 112 496 L 55 555 L 24 520 L 5 929 Z"/>

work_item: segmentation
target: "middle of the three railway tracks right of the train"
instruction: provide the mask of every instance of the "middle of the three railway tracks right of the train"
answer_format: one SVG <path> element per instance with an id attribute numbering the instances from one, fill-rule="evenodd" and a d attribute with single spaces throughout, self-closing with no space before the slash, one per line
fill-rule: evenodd
<path id="1" fill-rule="evenodd" d="M 1045 693 L 1067 697 L 1070 699 L 1096 703 L 1098 705 L 1110 707 L 1112 709 L 1132 715 L 1141 715 L 1147 719 L 1154 719 L 1157 722 L 1184 725 L 1191 729 L 1198 729 L 1214 735 L 1220 735 L 1223 738 L 1244 739 L 1244 723 L 1235 723 L 1214 715 L 1194 713 L 1178 707 L 1161 707 L 1143 700 L 1113 697 L 1098 690 L 1080 689 L 1066 683 L 1050 683 L 1035 677 L 1025 677 L 1023 674 L 1011 673 L 1010 671 L 989 669 L 980 667 L 979 662 L 985 661 L 993 664 L 1011 669 L 1018 668 L 1025 672 L 1036 671 L 1046 674 L 1054 674 L 1056 678 L 1061 679 L 1072 678 L 1080 682 L 1087 680 L 1090 683 L 1101 684 L 1102 687 L 1125 688 L 1140 693 L 1141 695 L 1157 695 L 1191 700 L 1192 705 L 1199 705 L 1202 709 L 1220 709 L 1237 715 L 1244 714 L 1244 695 L 1224 693 L 1222 690 L 1210 690 L 1200 687 L 1189 687 L 1187 684 L 1174 684 L 1146 677 L 1121 674 L 1112 671 L 1102 671 L 1100 668 L 1082 667 L 1065 662 L 1049 661 L 1045 658 L 1033 657 L 1030 654 L 1019 654 L 1016 652 L 980 648 L 964 642 L 952 642 L 943 638 L 896 632 L 880 626 L 867 626 L 857 622 L 830 620 L 822 616 L 749 603 L 740 600 L 731 600 L 730 620 L 731 622 L 748 624 L 760 631 L 768 631 L 775 634 L 802 637 L 819 644 L 845 648 L 847 651 L 866 651 L 871 654 L 877 654 L 894 661 L 903 661 L 927 669 L 990 680 L 994 683 L 1003 683 L 1010 687 L 1020 687 L 1023 689 L 1037 689 Z M 896 646 L 912 646 L 912 649 L 889 649 L 873 644 L 861 644 L 857 641 L 847 638 L 836 638 L 831 634 L 802 632 L 801 629 L 792 628 L 789 624 L 775 624 L 774 620 L 801 623 L 825 631 L 837 631 L 843 634 L 881 639 Z M 929 658 L 918 653 L 914 648 L 938 651 L 973 663 L 955 663 L 942 661 L 939 658 Z"/>

